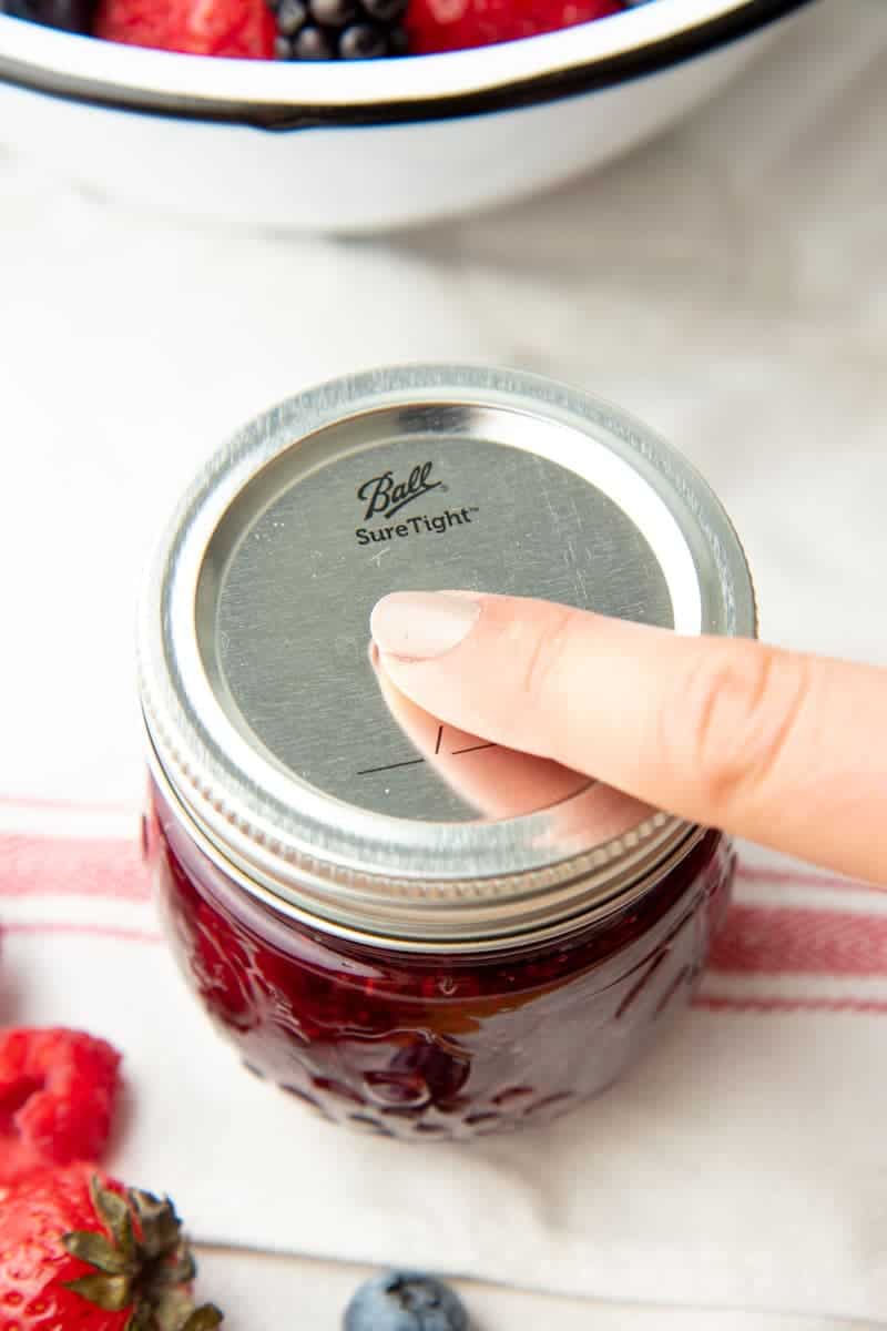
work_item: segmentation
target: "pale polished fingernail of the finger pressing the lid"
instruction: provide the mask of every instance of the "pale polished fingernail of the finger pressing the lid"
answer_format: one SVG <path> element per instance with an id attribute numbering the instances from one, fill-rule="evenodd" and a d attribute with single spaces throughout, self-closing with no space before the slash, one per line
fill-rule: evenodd
<path id="1" fill-rule="evenodd" d="M 467 638 L 480 602 L 445 591 L 395 591 L 376 602 L 370 631 L 379 651 L 406 660 L 443 656 Z"/>

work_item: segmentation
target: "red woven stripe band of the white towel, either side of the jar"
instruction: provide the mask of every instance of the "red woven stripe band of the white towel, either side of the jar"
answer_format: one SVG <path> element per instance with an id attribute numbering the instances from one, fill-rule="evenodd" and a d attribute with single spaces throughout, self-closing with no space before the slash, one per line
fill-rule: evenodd
<path id="1" fill-rule="evenodd" d="M 137 812 L 0 797 L 0 920 L 11 937 L 161 945 Z M 745 848 L 696 1006 L 887 1014 L 887 893 Z"/>

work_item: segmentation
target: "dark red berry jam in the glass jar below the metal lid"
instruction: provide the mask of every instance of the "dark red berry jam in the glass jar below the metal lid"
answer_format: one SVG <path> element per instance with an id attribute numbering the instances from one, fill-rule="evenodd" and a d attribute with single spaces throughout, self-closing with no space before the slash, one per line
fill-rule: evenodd
<path id="1" fill-rule="evenodd" d="M 707 832 L 605 920 L 511 950 L 386 950 L 247 894 L 152 791 L 174 953 L 246 1066 L 326 1118 L 399 1138 L 541 1123 L 597 1094 L 686 1006 L 735 856 Z"/>

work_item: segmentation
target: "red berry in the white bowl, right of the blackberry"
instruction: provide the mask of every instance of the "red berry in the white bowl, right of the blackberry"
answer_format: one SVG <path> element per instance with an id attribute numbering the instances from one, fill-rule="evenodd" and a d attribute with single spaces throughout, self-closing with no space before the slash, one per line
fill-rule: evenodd
<path id="1" fill-rule="evenodd" d="M 410 0 L 407 33 L 416 55 L 488 47 L 621 13 L 617 0 Z"/>

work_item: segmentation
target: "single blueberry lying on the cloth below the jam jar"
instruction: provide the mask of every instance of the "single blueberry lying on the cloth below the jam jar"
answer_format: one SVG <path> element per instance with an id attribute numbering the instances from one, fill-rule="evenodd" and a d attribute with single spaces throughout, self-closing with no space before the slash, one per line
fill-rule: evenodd
<path id="1" fill-rule="evenodd" d="M 344 1331 L 468 1331 L 468 1314 L 461 1299 L 432 1275 L 386 1271 L 354 1295 Z"/>

